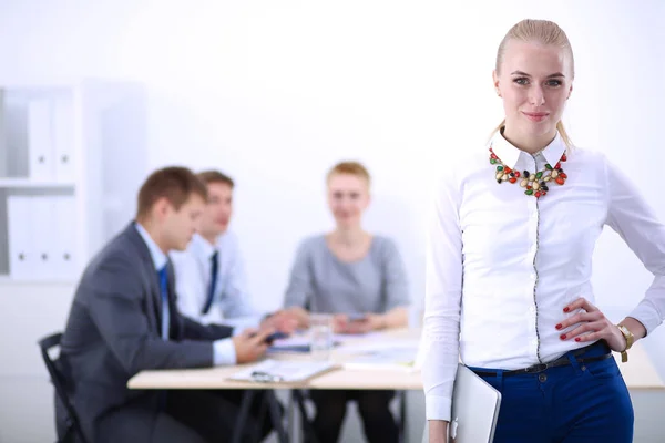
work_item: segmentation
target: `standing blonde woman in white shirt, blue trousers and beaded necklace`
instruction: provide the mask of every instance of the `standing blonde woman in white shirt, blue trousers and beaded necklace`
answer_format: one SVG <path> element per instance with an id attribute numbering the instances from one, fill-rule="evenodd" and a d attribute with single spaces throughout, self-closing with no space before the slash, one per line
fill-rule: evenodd
<path id="1" fill-rule="evenodd" d="M 551 21 L 524 20 L 493 73 L 505 120 L 437 188 L 428 241 L 423 364 L 430 443 L 447 441 L 458 357 L 502 393 L 494 442 L 627 443 L 633 408 L 611 351 L 665 315 L 665 227 L 603 154 L 561 123 L 573 51 Z M 591 261 L 603 226 L 655 278 L 613 324 L 594 305 Z"/>

